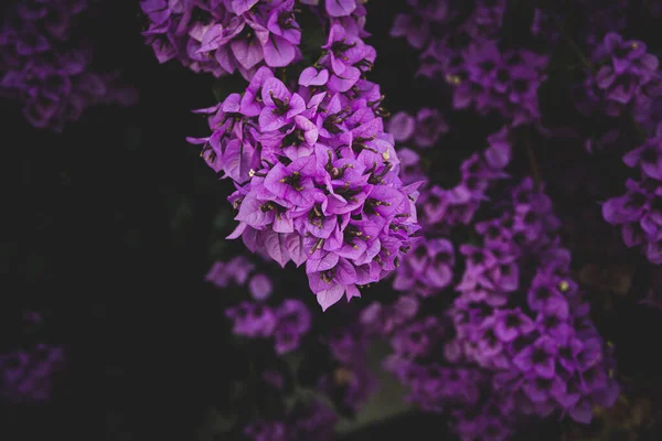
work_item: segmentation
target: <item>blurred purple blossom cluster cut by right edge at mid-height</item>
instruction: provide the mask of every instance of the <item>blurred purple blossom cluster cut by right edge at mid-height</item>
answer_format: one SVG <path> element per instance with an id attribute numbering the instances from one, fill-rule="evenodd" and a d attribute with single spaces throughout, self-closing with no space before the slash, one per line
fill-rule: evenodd
<path id="1" fill-rule="evenodd" d="M 620 225 L 623 243 L 641 247 L 648 259 L 662 263 L 662 123 L 639 148 L 623 157 L 624 163 L 640 173 L 626 182 L 627 193 L 602 205 L 605 219 Z"/>

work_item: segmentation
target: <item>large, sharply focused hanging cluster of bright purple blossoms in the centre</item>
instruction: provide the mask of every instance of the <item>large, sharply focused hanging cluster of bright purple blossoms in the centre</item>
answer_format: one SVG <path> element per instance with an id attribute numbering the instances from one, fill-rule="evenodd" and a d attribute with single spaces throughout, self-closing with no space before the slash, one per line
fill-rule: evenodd
<path id="1" fill-rule="evenodd" d="M 322 309 L 393 271 L 416 224 L 417 183 L 403 185 L 378 85 L 362 79 L 375 50 L 333 24 L 323 53 L 286 85 L 260 67 L 243 94 L 201 110 L 209 165 L 231 178 L 242 237 L 281 266 L 306 263 Z"/>

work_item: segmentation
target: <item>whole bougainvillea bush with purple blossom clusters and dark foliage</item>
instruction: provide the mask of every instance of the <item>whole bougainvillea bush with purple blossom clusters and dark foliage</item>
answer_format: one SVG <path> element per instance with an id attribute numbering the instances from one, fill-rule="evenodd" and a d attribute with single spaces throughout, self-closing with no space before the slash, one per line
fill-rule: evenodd
<path id="1" fill-rule="evenodd" d="M 66 44 L 97 3 L 21 0 L 0 32 L 0 92 L 35 128 L 135 104 L 122 66 Z M 437 438 L 652 433 L 659 385 L 620 323 L 662 309 L 662 4 L 387 3 L 136 4 L 147 62 L 210 85 L 172 103 L 196 123 L 170 141 L 205 165 L 213 226 L 183 240 L 212 230 L 191 256 L 220 299 L 207 351 L 241 354 L 207 430 L 353 439 L 410 411 Z M 34 401 L 66 364 L 40 344 L 0 369 Z"/>

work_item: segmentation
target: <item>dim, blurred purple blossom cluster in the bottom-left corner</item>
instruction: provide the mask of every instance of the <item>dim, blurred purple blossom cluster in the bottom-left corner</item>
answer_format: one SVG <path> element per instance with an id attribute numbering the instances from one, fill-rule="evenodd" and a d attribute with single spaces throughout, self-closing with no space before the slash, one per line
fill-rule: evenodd
<path id="1" fill-rule="evenodd" d="M 32 349 L 0 354 L 0 399 L 9 402 L 50 399 L 53 375 L 63 366 L 64 349 L 44 343 Z"/>

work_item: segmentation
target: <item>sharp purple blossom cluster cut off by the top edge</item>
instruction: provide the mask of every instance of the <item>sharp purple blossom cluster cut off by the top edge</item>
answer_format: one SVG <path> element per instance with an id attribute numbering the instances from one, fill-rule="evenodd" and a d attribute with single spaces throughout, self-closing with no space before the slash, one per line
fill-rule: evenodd
<path id="1" fill-rule="evenodd" d="M 260 66 L 301 58 L 293 0 L 142 0 L 140 7 L 160 63 L 177 58 L 196 73 L 238 71 L 250 79 Z"/>

